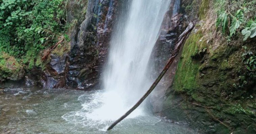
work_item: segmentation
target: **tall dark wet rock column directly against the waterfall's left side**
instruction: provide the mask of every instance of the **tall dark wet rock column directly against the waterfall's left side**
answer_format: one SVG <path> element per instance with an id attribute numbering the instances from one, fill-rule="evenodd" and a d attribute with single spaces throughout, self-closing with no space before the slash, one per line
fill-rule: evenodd
<path id="1" fill-rule="evenodd" d="M 116 0 L 88 1 L 85 20 L 71 35 L 66 77 L 68 86 L 85 90 L 99 82 L 116 3 Z"/>

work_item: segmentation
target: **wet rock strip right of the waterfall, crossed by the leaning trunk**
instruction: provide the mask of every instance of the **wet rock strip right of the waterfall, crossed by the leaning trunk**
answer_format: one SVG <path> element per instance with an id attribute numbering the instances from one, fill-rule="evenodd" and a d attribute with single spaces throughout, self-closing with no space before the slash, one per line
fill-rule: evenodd
<path id="1" fill-rule="evenodd" d="M 187 26 L 187 23 L 184 23 L 187 21 L 186 16 L 178 12 L 179 4 L 180 0 L 171 1 L 169 9 L 165 13 L 160 34 L 150 57 L 150 62 L 154 64 L 154 66 L 152 66 L 150 69 L 152 71 L 152 78 L 156 78 L 160 74 L 172 52 L 174 51 L 179 35 Z M 178 58 L 179 57 L 180 56 L 178 56 Z M 151 105 L 154 112 L 159 112 L 162 110 L 162 102 L 166 96 L 165 92 L 174 79 L 176 66 L 178 63 L 177 59 L 175 59 L 169 71 L 164 75 L 162 80 L 157 85 L 157 89 L 155 89 L 151 95 L 151 99 L 153 100 L 151 101 Z"/>

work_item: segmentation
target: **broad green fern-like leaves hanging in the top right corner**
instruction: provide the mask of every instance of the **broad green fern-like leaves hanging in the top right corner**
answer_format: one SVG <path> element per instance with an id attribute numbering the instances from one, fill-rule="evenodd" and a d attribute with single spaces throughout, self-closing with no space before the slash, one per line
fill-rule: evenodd
<path id="1" fill-rule="evenodd" d="M 255 18 L 255 11 L 256 11 L 255 4 L 256 4 L 255 0 L 252 0 L 252 1 L 216 0 L 215 7 L 214 7 L 217 12 L 217 20 L 215 23 L 216 28 L 221 26 L 223 34 L 226 34 L 227 29 L 229 29 L 229 37 L 227 37 L 229 41 L 231 39 L 230 37 L 235 35 L 236 32 L 238 33 L 241 32 L 241 34 L 244 36 L 244 41 L 246 41 L 248 37 L 250 38 L 255 37 L 256 36 L 256 26 L 255 26 L 256 20 L 253 21 L 251 19 L 251 18 Z"/>

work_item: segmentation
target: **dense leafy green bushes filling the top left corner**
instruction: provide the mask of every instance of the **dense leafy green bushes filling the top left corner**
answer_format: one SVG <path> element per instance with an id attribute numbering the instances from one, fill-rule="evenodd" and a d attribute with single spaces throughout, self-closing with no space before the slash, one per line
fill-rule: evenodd
<path id="1" fill-rule="evenodd" d="M 64 0 L 2 0 L 0 52 L 30 68 L 43 49 L 58 41 L 67 27 Z"/>

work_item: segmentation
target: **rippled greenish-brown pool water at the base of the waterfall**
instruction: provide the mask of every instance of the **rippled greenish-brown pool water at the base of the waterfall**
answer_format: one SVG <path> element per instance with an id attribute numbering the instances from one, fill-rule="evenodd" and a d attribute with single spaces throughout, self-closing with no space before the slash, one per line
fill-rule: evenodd
<path id="1" fill-rule="evenodd" d="M 69 89 L 6 89 L 0 95 L 0 133 L 10 134 L 196 134 L 187 126 L 169 123 L 137 111 L 113 130 L 108 115 L 98 116 L 102 91 Z M 117 110 L 117 109 L 112 109 Z M 112 118 L 112 117 L 111 117 Z"/>

